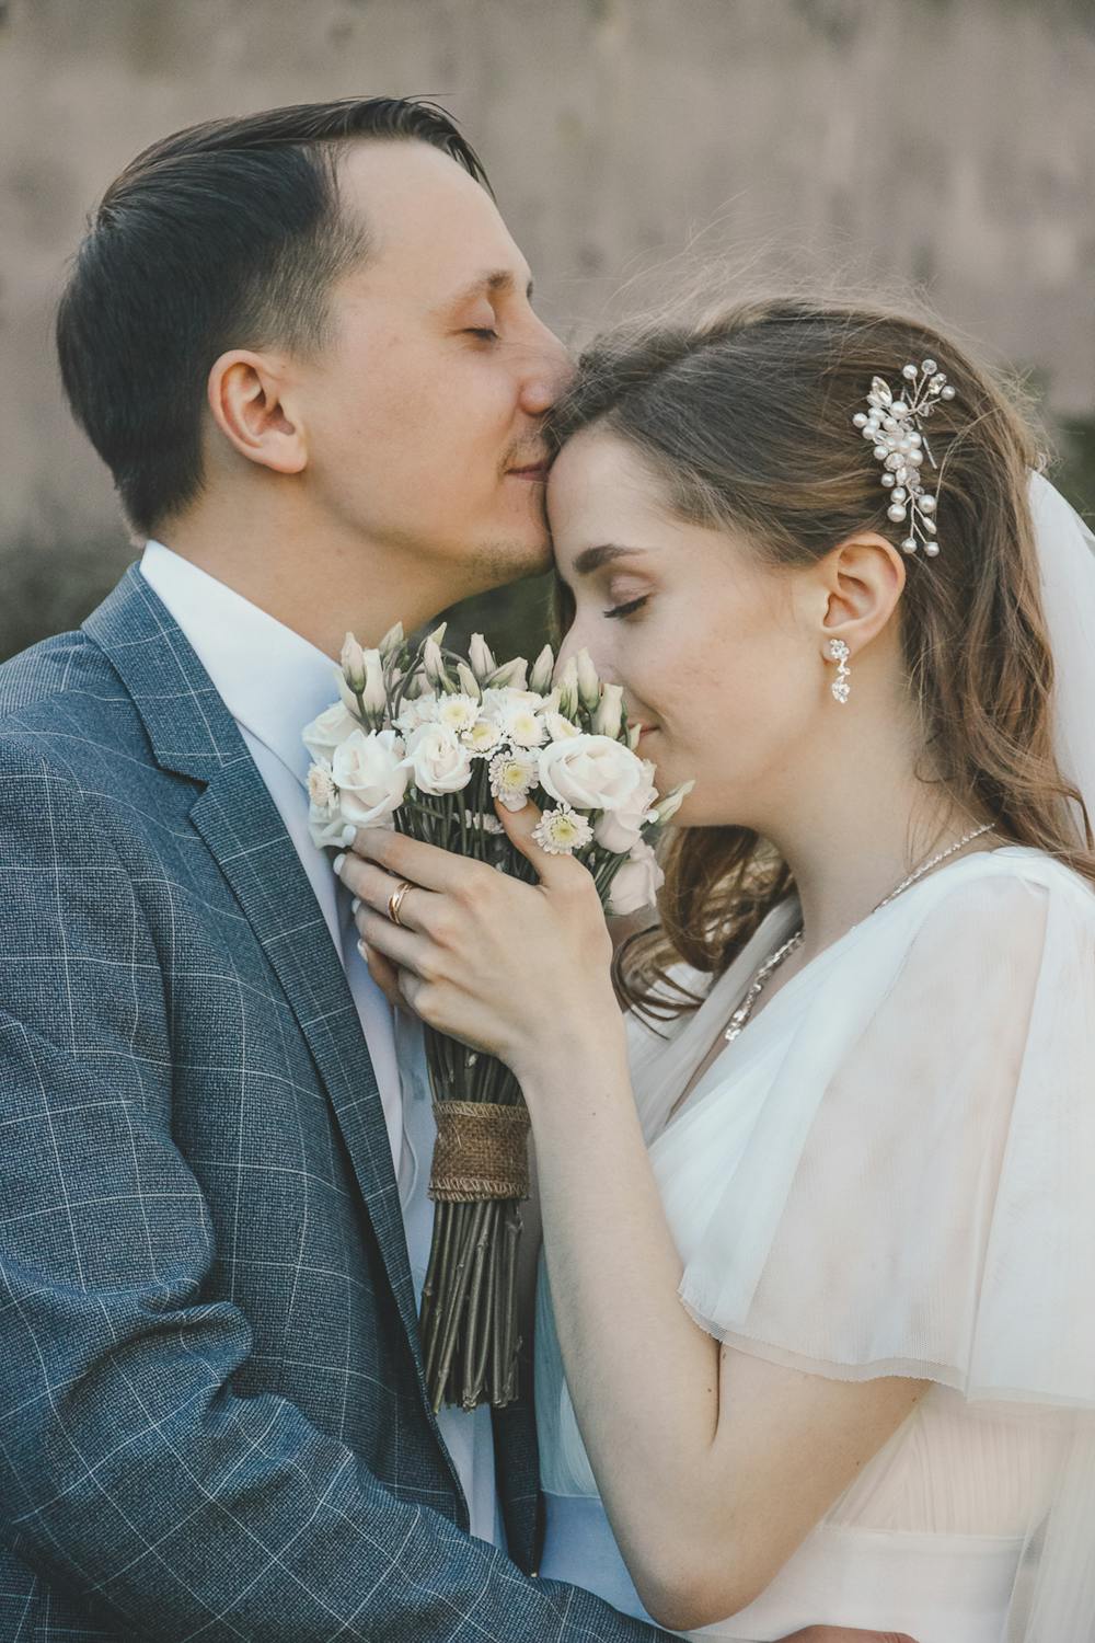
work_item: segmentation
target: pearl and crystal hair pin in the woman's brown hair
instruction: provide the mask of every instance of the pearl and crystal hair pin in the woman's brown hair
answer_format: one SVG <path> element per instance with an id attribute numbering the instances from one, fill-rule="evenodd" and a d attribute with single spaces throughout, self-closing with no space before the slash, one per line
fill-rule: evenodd
<path id="1" fill-rule="evenodd" d="M 882 376 L 873 376 L 867 404 L 870 411 L 857 411 L 852 424 L 864 439 L 873 444 L 875 458 L 882 463 L 882 483 L 890 491 L 887 516 L 895 524 L 908 519 L 909 532 L 901 541 L 906 554 L 924 549 L 929 559 L 939 552 L 936 541 L 936 496 L 921 480 L 921 467 L 928 457 L 937 467 L 921 422 L 931 416 L 941 399 L 954 399 L 954 388 L 934 360 L 906 365 L 901 370 L 905 386 L 901 396 Z"/>

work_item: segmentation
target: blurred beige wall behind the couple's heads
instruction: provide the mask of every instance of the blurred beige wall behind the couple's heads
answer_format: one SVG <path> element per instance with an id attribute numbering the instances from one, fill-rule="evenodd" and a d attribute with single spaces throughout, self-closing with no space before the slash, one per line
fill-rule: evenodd
<path id="1" fill-rule="evenodd" d="M 836 256 L 919 281 L 1082 419 L 1093 90 L 1092 0 L 0 0 L 8 611 L 44 601 L 49 623 L 131 554 L 61 399 L 51 311 L 85 212 L 169 130 L 432 95 L 484 154 L 568 335 L 699 233 L 760 269 Z"/>

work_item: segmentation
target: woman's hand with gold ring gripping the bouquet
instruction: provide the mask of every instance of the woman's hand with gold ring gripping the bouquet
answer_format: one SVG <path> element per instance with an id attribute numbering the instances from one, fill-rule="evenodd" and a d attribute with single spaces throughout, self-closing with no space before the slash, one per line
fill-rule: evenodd
<path id="1" fill-rule="evenodd" d="M 520 1079 L 560 1052 L 583 1056 L 622 1047 L 611 984 L 612 943 L 593 877 L 571 856 L 548 856 L 532 838 L 535 805 L 499 818 L 538 884 L 404 838 L 358 833 L 338 861 L 374 981 L 438 1032 L 501 1056 Z M 410 889 L 397 912 L 389 902 Z"/>

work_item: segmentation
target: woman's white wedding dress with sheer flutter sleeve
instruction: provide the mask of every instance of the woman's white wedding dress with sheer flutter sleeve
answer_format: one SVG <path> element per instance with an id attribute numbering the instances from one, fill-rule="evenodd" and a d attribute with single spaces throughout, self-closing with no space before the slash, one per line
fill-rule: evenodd
<path id="1" fill-rule="evenodd" d="M 681 1303 L 780 1364 L 932 1385 L 767 1590 L 696 1635 L 1090 1643 L 1095 892 L 1018 846 L 941 868 L 798 971 L 670 1116 L 796 914 L 668 1037 L 629 1025 Z M 543 1267 L 535 1360 L 540 1572 L 642 1615 Z"/>

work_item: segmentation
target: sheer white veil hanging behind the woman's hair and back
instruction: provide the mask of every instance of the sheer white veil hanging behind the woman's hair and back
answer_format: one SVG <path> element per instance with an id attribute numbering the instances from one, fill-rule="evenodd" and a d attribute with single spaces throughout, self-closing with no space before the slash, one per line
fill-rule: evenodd
<path id="1" fill-rule="evenodd" d="M 1095 823 L 1095 536 L 1039 473 L 1031 476 L 1042 605 L 1056 669 L 1056 746 Z M 1088 978 L 1095 986 L 1095 969 Z M 1095 1099 L 1095 1068 L 1092 1068 Z M 1075 1306 L 1088 1275 L 1077 1273 Z M 1095 1405 L 1095 1364 L 1092 1364 Z M 1095 1408 L 1062 1411 L 1065 1459 L 1049 1515 L 1028 1546 L 1006 1643 L 1095 1638 Z"/>

